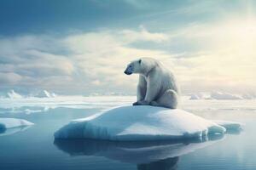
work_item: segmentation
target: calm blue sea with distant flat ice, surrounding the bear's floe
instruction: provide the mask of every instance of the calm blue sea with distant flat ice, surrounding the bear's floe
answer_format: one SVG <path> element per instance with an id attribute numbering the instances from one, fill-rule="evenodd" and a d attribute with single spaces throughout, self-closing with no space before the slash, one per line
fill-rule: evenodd
<path id="1" fill-rule="evenodd" d="M 243 123 L 243 130 L 203 140 L 110 142 L 55 140 L 73 119 L 130 105 L 134 97 L 0 99 L 0 117 L 35 123 L 0 131 L 0 170 L 37 169 L 256 169 L 256 101 L 188 100 L 181 107 L 207 119 Z M 122 123 L 122 122 L 120 122 Z"/>

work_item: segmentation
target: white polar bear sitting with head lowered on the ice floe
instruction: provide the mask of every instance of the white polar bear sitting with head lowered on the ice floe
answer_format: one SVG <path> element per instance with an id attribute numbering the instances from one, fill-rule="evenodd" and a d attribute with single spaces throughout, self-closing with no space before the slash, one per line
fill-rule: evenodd
<path id="1" fill-rule="evenodd" d="M 125 74 L 139 74 L 137 102 L 133 105 L 177 108 L 179 89 L 175 77 L 156 59 L 142 58 L 131 61 L 125 69 Z"/>

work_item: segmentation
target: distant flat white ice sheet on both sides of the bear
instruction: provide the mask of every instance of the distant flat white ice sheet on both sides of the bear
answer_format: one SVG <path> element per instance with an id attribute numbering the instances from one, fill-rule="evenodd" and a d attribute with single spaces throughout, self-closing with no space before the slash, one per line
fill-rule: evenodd
<path id="1" fill-rule="evenodd" d="M 196 93 L 195 98 L 189 96 L 181 97 L 181 106 L 186 111 L 193 110 L 255 110 L 256 99 L 212 99 L 210 93 Z M 193 97 L 193 99 L 191 99 Z M 10 113 L 40 113 L 55 108 L 71 109 L 97 109 L 107 110 L 115 106 L 131 105 L 136 101 L 136 96 L 61 96 L 50 98 L 22 97 L 16 99 L 0 98 L 0 114 Z"/>

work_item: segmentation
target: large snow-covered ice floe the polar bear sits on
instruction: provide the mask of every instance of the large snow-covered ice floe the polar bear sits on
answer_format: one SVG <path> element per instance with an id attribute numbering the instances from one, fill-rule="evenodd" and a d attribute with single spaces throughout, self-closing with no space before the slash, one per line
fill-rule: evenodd
<path id="1" fill-rule="evenodd" d="M 225 131 L 216 122 L 187 111 L 141 105 L 117 107 L 74 120 L 55 132 L 55 139 L 186 139 Z"/>

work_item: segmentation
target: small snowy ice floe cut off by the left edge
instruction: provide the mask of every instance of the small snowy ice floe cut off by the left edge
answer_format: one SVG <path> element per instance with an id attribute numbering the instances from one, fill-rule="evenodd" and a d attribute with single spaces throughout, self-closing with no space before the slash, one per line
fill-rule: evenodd
<path id="1" fill-rule="evenodd" d="M 0 118 L 0 129 L 7 129 L 13 127 L 26 127 L 32 126 L 34 123 L 28 122 L 24 119 L 15 118 Z"/>

